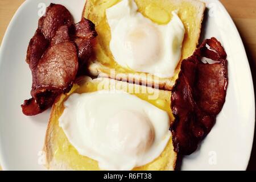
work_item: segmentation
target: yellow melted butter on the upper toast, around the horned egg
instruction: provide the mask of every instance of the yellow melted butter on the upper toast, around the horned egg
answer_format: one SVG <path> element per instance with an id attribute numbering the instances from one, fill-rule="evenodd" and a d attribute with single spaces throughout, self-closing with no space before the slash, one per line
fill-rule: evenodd
<path id="1" fill-rule="evenodd" d="M 101 64 L 115 68 L 119 73 L 135 73 L 129 68 L 123 68 L 114 61 L 110 51 L 109 43 L 111 40 L 110 27 L 106 19 L 105 10 L 115 5 L 120 0 L 88 0 L 85 9 L 85 18 L 90 19 L 96 25 L 98 32 L 97 43 L 95 46 L 96 59 Z M 181 60 L 192 55 L 197 46 L 197 35 L 199 28 L 196 27 L 196 8 L 191 2 L 174 3 L 166 0 L 134 0 L 137 3 L 138 11 L 153 22 L 158 24 L 167 24 L 172 18 L 172 11 L 177 10 L 178 16 L 184 24 L 185 36 L 181 50 Z M 180 64 L 177 65 L 175 76 L 171 80 L 176 80 L 179 73 Z M 109 74 L 106 69 L 99 68 L 101 72 Z M 159 78 L 159 81 L 164 78 Z"/>

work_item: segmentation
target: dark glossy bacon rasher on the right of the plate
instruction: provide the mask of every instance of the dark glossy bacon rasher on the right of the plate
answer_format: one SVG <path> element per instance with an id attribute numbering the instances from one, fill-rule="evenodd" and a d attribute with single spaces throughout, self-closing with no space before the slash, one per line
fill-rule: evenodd
<path id="1" fill-rule="evenodd" d="M 203 63 L 205 58 L 212 63 Z M 170 130 L 176 152 L 189 155 L 197 149 L 224 105 L 227 86 L 226 52 L 216 38 L 204 40 L 191 57 L 182 61 L 172 90 L 175 121 Z"/>

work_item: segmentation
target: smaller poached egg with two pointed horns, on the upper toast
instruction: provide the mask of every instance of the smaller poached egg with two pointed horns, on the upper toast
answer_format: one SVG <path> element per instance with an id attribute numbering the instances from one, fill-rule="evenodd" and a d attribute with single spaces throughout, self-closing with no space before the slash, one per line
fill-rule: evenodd
<path id="1" fill-rule="evenodd" d="M 176 11 L 160 25 L 138 12 L 134 0 L 122 0 L 106 9 L 111 31 L 110 51 L 122 67 L 168 78 L 181 58 L 185 29 Z"/>

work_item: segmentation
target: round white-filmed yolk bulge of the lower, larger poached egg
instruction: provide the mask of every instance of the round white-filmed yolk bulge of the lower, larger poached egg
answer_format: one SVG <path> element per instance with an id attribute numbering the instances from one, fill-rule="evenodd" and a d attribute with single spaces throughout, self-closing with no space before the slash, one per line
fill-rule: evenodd
<path id="1" fill-rule="evenodd" d="M 113 150 L 129 156 L 146 152 L 155 138 L 150 119 L 138 111 L 123 110 L 114 114 L 106 130 Z"/>

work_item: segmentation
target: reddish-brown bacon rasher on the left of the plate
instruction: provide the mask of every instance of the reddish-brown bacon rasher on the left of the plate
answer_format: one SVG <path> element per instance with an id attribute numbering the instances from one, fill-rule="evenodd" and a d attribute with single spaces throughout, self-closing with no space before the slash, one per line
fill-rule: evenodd
<path id="1" fill-rule="evenodd" d="M 94 24 L 89 20 L 82 18 L 74 24 L 64 6 L 47 7 L 27 49 L 32 98 L 22 105 L 25 115 L 42 113 L 59 94 L 71 89 L 77 73 L 84 73 L 84 63 L 92 55 L 92 39 L 96 36 Z"/>

